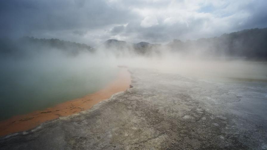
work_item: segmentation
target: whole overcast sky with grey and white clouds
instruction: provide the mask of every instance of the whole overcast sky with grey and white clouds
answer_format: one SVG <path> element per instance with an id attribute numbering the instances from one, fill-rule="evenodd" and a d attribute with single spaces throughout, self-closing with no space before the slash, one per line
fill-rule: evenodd
<path id="1" fill-rule="evenodd" d="M 2 37 L 167 43 L 267 27 L 267 0 L 1 0 Z"/>

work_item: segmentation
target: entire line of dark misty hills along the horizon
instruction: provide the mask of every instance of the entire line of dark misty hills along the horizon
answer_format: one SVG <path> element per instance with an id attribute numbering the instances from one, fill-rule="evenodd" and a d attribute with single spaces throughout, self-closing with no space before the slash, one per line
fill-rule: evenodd
<path id="1" fill-rule="evenodd" d="M 200 38 L 185 42 L 175 39 L 167 45 L 109 39 L 94 49 L 86 44 L 59 39 L 23 37 L 18 40 L 2 38 L 0 47 L 1 55 L 18 56 L 48 49 L 58 49 L 69 56 L 76 56 L 80 52 L 93 53 L 103 49 L 109 54 L 122 57 L 125 55 L 160 55 L 163 51 L 169 50 L 172 53 L 196 57 L 243 57 L 248 60 L 267 60 L 267 28 L 246 29 L 223 34 L 220 37 Z"/>

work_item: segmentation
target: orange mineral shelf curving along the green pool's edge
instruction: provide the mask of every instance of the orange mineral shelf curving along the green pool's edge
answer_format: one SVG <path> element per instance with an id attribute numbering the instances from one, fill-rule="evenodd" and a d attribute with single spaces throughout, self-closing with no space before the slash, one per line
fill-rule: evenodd
<path id="1" fill-rule="evenodd" d="M 130 84 L 130 73 L 127 68 L 121 68 L 117 79 L 96 93 L 66 101 L 45 110 L 38 110 L 25 115 L 16 115 L 10 119 L 0 121 L 0 136 L 32 129 L 45 121 L 90 109 L 93 105 L 108 99 L 113 94 L 127 90 Z"/>

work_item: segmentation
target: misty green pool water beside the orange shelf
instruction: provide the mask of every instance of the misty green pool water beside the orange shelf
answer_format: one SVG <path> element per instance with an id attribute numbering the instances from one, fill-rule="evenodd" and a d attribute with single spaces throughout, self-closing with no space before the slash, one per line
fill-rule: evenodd
<path id="1" fill-rule="evenodd" d="M 117 71 L 105 65 L 2 64 L 0 120 L 94 93 L 114 80 Z"/>

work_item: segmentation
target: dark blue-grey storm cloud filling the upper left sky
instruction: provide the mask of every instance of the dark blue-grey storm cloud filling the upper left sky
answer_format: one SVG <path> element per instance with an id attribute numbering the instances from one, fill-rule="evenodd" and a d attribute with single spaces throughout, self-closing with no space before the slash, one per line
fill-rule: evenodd
<path id="1" fill-rule="evenodd" d="M 21 36 L 34 31 L 95 29 L 124 23 L 133 17 L 103 0 L 1 1 L 2 35 Z"/>

